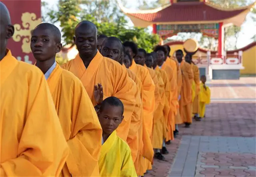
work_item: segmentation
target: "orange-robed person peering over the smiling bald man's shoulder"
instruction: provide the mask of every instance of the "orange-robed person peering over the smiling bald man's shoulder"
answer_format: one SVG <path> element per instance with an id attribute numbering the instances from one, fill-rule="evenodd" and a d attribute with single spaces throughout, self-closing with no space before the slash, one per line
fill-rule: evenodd
<path id="1" fill-rule="evenodd" d="M 107 39 L 105 39 L 101 53 L 104 57 L 108 57 L 119 62 L 125 68 L 125 66 L 123 65 L 124 49 L 120 39 L 116 37 L 108 37 Z M 127 143 L 132 151 L 132 159 L 133 162 L 135 162 L 139 151 L 138 131 L 142 124 L 142 102 L 140 97 L 140 87 L 142 87 L 142 83 L 131 70 L 126 70 L 133 83 L 133 91 L 136 102 L 134 111 L 132 113 L 130 130 L 127 137 Z M 138 170 L 136 169 L 136 171 Z"/>

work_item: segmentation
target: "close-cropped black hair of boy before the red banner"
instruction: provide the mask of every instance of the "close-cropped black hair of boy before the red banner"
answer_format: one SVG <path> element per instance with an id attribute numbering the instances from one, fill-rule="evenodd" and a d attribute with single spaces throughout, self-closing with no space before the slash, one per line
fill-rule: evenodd
<path id="1" fill-rule="evenodd" d="M 55 25 L 52 25 L 50 23 L 41 23 L 41 24 L 37 25 L 33 31 L 35 31 L 35 30 L 49 30 L 52 33 L 52 35 L 55 37 L 56 43 L 61 42 L 60 30 Z"/>

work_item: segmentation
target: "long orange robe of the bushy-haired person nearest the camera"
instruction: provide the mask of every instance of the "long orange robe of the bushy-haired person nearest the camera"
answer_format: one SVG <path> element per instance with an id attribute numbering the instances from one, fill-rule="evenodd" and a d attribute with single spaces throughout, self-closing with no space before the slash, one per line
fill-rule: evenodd
<path id="1" fill-rule="evenodd" d="M 132 72 L 136 74 L 136 76 L 142 82 L 142 105 L 143 105 L 143 117 L 142 117 L 142 142 L 143 147 L 138 159 L 139 164 L 139 173 L 138 176 L 141 176 L 147 170 L 146 160 L 148 159 L 150 162 L 153 162 L 153 146 L 150 139 L 150 135 L 147 131 L 147 125 L 149 122 L 153 122 L 153 113 L 155 109 L 155 84 L 151 79 L 149 71 L 147 68 L 137 65 L 135 61 L 132 61 L 132 65 L 129 68 Z M 145 159 L 146 158 L 146 159 Z"/>

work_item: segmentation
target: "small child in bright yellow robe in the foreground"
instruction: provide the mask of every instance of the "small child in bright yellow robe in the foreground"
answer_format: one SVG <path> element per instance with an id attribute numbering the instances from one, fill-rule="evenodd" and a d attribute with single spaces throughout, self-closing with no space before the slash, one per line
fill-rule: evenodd
<path id="1" fill-rule="evenodd" d="M 128 144 L 116 135 L 116 129 L 124 116 L 124 105 L 111 96 L 103 100 L 98 117 L 102 127 L 102 147 L 100 151 L 100 176 L 137 176 Z"/>

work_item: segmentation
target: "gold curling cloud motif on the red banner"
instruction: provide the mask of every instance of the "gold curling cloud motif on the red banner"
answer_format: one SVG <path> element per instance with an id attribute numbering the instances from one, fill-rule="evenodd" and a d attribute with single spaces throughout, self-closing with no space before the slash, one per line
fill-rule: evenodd
<path id="1" fill-rule="evenodd" d="M 15 24 L 14 26 L 14 35 L 12 39 L 15 42 L 20 42 L 21 38 L 22 39 L 22 52 L 24 53 L 30 53 L 30 38 L 31 38 L 31 31 L 41 23 L 41 18 L 36 19 L 36 14 L 35 13 L 29 13 L 25 12 L 22 13 L 21 15 L 21 21 L 22 21 L 22 27 L 20 24 Z"/>

